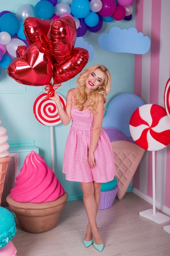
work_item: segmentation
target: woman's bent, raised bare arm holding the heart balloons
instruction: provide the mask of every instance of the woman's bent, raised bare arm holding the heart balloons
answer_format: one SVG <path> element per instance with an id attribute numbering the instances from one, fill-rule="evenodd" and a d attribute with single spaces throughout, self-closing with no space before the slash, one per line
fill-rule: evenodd
<path id="1" fill-rule="evenodd" d="M 60 97 L 57 94 L 57 92 L 54 92 L 53 97 L 49 97 L 49 99 L 55 101 L 55 104 L 58 110 L 58 115 L 64 125 L 68 125 L 71 121 L 71 106 L 72 106 L 73 92 L 74 92 L 74 88 L 70 89 L 67 93 L 65 110 L 62 107 Z"/>

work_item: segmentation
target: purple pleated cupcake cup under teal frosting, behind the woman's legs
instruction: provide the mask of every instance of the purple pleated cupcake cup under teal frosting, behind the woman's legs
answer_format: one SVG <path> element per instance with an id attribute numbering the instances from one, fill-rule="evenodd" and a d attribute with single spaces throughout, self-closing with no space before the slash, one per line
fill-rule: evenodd
<path id="1" fill-rule="evenodd" d="M 112 207 L 115 200 L 119 186 L 116 185 L 114 189 L 108 191 L 101 191 L 99 210 L 104 210 Z"/>

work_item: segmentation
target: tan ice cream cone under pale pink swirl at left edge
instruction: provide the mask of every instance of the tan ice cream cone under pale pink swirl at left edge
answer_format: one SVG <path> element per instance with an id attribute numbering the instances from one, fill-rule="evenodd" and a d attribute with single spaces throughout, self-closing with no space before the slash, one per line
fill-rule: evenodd
<path id="1" fill-rule="evenodd" d="M 7 173 L 7 168 L 10 161 L 11 161 L 11 157 L 0 158 L 0 204 L 1 204 L 2 192 L 4 189 L 4 181 Z"/>

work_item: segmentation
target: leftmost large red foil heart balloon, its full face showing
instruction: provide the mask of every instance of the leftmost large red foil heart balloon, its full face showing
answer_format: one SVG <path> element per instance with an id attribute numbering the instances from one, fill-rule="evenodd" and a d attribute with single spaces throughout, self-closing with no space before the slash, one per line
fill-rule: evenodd
<path id="1" fill-rule="evenodd" d="M 24 56 L 16 58 L 7 69 L 8 75 L 18 83 L 38 86 L 49 85 L 52 72 L 49 49 L 40 42 L 30 45 Z"/>

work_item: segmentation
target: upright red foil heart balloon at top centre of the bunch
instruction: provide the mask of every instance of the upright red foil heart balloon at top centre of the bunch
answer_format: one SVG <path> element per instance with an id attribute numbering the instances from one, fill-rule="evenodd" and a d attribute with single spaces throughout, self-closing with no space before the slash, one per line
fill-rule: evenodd
<path id="1" fill-rule="evenodd" d="M 48 34 L 48 45 L 52 59 L 64 63 L 71 54 L 76 40 L 76 25 L 73 18 L 64 16 L 53 20 Z"/>

